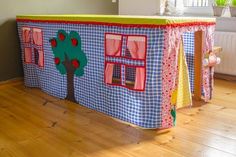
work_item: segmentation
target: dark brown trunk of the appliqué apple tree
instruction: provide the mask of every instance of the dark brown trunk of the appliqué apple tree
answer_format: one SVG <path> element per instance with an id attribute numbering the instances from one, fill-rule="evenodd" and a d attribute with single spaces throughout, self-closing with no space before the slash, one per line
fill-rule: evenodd
<path id="1" fill-rule="evenodd" d="M 67 96 L 66 99 L 76 102 L 75 100 L 75 91 L 74 91 L 74 72 L 75 68 L 73 67 L 71 61 L 65 56 L 65 62 L 63 63 L 67 71 Z"/>

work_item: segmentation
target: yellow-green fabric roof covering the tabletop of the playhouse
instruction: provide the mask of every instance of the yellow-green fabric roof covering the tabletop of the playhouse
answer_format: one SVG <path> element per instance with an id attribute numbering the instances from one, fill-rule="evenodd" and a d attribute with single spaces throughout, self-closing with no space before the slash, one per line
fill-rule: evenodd
<path id="1" fill-rule="evenodd" d="M 215 22 L 215 18 L 165 17 L 165 16 L 124 16 L 124 15 L 18 15 L 17 19 L 59 20 L 81 22 L 105 22 L 119 24 L 180 24 L 189 22 Z"/>

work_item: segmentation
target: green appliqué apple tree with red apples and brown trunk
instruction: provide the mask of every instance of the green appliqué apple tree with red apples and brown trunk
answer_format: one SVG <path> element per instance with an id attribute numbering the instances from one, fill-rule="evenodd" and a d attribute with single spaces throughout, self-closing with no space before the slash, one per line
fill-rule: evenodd
<path id="1" fill-rule="evenodd" d="M 59 30 L 55 38 L 50 39 L 54 62 L 57 70 L 67 75 L 67 97 L 75 101 L 74 96 L 74 75 L 84 75 L 84 67 L 87 65 L 87 58 L 81 49 L 81 38 L 75 31 L 69 34 Z"/>

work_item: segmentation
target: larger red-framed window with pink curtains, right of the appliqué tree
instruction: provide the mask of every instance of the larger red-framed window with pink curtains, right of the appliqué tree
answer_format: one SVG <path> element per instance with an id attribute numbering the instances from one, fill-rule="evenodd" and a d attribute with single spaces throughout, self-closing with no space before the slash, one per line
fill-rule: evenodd
<path id="1" fill-rule="evenodd" d="M 109 85 L 144 91 L 146 51 L 146 36 L 106 33 L 104 82 Z M 126 64 L 129 61 L 140 61 L 143 66 Z M 125 72 L 122 73 L 122 69 Z"/>

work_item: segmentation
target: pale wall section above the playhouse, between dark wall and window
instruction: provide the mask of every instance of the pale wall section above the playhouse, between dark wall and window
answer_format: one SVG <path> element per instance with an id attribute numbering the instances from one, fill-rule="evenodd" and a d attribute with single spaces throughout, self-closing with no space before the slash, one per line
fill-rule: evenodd
<path id="1" fill-rule="evenodd" d="M 119 0 L 120 15 L 160 14 L 162 0 Z"/>

